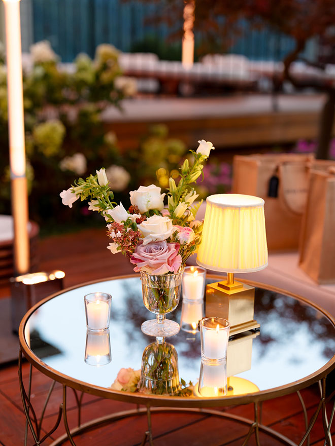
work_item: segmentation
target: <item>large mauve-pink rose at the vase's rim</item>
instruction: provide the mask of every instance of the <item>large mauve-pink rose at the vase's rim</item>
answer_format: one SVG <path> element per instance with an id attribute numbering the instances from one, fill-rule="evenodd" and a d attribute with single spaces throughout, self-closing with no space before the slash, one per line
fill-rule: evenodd
<path id="1" fill-rule="evenodd" d="M 150 274 L 177 273 L 181 265 L 181 255 L 178 254 L 179 243 L 152 242 L 140 244 L 130 258 L 130 263 L 136 265 L 134 271 L 146 271 Z"/>

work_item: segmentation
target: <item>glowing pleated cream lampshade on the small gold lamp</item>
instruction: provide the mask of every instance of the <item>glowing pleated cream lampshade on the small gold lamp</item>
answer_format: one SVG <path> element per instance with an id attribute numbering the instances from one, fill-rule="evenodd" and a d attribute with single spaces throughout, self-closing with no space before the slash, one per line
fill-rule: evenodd
<path id="1" fill-rule="evenodd" d="M 264 200 L 218 194 L 206 200 L 198 265 L 226 273 L 248 273 L 267 266 Z"/>

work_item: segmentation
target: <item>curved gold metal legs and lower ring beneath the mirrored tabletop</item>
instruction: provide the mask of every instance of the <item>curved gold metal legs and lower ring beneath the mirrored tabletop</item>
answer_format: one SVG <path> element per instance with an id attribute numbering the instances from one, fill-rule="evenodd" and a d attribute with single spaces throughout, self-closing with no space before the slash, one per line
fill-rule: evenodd
<path id="1" fill-rule="evenodd" d="M 148 420 L 148 430 L 144 434 L 143 441 L 141 443 L 141 446 L 144 446 L 147 442 L 149 442 L 150 446 L 154 446 L 153 443 L 153 436 L 152 436 L 152 420 L 151 420 L 151 414 L 152 413 L 159 413 L 159 412 L 184 412 L 184 413 L 199 413 L 199 414 L 208 414 L 215 417 L 222 417 L 226 418 L 232 421 L 236 421 L 238 423 L 242 423 L 245 425 L 250 426 L 249 431 L 247 433 L 247 436 L 242 443 L 242 446 L 247 446 L 248 441 L 250 437 L 254 434 L 256 444 L 257 446 L 261 446 L 260 439 L 259 439 L 259 432 L 264 432 L 267 435 L 270 435 L 277 440 L 281 441 L 283 444 L 287 444 L 288 446 L 303 446 L 303 444 L 306 442 L 306 445 L 310 445 L 310 433 L 314 427 L 314 424 L 316 422 L 316 419 L 319 415 L 319 413 L 322 413 L 322 422 L 323 422 L 323 430 L 324 430 L 324 446 L 332 446 L 332 440 L 330 435 L 330 429 L 331 424 L 334 418 L 335 413 L 335 402 L 332 406 L 332 411 L 330 414 L 330 418 L 328 421 L 327 418 L 327 411 L 326 411 L 326 404 L 328 401 L 335 396 L 335 391 L 332 392 L 331 395 L 326 397 L 325 394 L 325 383 L 326 383 L 326 377 L 322 378 L 322 380 L 319 381 L 319 388 L 320 388 L 320 402 L 317 406 L 317 409 L 310 419 L 308 420 L 307 415 L 307 409 L 305 402 L 303 400 L 303 397 L 301 396 L 300 392 L 297 391 L 297 395 L 299 397 L 299 400 L 301 402 L 301 405 L 303 406 L 304 411 L 304 418 L 305 418 L 305 428 L 306 432 L 301 439 L 301 441 L 297 444 L 290 440 L 285 435 L 282 435 L 279 432 L 276 432 L 275 430 L 271 429 L 270 427 L 267 427 L 262 424 L 262 402 L 254 403 L 254 420 L 250 420 L 244 417 L 240 417 L 238 415 L 233 414 L 227 414 L 225 412 L 221 412 L 218 410 L 212 410 L 207 408 L 177 408 L 177 407 L 150 407 L 148 405 L 145 408 L 140 408 L 139 405 L 136 409 L 118 412 L 115 414 L 107 415 L 105 417 L 97 418 L 95 420 L 92 420 L 90 422 L 81 423 L 81 405 L 82 405 L 82 399 L 84 392 L 80 392 L 80 395 L 78 395 L 77 391 L 73 389 L 72 387 L 69 387 L 73 390 L 76 398 L 76 403 L 78 407 L 78 426 L 74 429 L 70 429 L 68 424 L 68 415 L 67 415 L 67 409 L 66 409 L 66 395 L 67 395 L 67 389 L 68 386 L 63 384 L 63 400 L 59 406 L 59 411 L 57 415 L 56 422 L 54 426 L 52 427 L 49 432 L 47 432 L 42 438 L 41 438 L 41 432 L 42 432 L 42 423 L 43 418 L 45 414 L 45 410 L 48 404 L 48 401 L 50 399 L 51 393 L 53 391 L 55 381 L 52 382 L 51 387 L 49 389 L 46 401 L 43 406 L 42 414 L 40 417 L 40 420 L 38 421 L 38 418 L 36 416 L 35 411 L 33 410 L 31 401 L 30 401 L 30 393 L 31 393 L 31 378 L 32 378 L 32 365 L 29 366 L 29 382 L 28 382 L 28 391 L 26 392 L 24 388 L 23 378 L 22 378 L 22 351 L 19 352 L 19 384 L 20 384 L 20 391 L 21 391 L 21 398 L 23 403 L 23 410 L 26 416 L 26 425 L 25 425 L 25 437 L 24 437 L 24 446 L 27 446 L 27 433 L 28 433 L 28 427 L 30 428 L 31 434 L 33 436 L 33 439 L 35 443 L 32 446 L 40 446 L 47 438 L 49 438 L 52 433 L 57 429 L 57 427 L 60 424 L 61 418 L 63 418 L 65 431 L 66 433 L 61 435 L 59 438 L 57 438 L 55 441 L 52 442 L 50 446 L 60 446 L 64 443 L 64 441 L 69 440 L 72 446 L 76 446 L 76 443 L 73 439 L 74 436 L 85 432 L 86 430 L 95 428 L 100 425 L 104 425 L 113 421 L 117 421 L 126 417 L 131 416 L 137 416 L 137 415 L 144 415 L 147 414 L 147 420 Z M 30 415 L 31 413 L 31 415 Z"/>

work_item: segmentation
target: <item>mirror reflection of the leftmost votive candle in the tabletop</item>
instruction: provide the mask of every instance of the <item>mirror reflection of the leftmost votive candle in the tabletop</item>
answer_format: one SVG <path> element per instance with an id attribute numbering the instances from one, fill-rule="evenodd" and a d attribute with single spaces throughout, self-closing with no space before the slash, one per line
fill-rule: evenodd
<path id="1" fill-rule="evenodd" d="M 89 365 L 106 365 L 111 362 L 109 330 L 86 331 L 85 362 Z"/>

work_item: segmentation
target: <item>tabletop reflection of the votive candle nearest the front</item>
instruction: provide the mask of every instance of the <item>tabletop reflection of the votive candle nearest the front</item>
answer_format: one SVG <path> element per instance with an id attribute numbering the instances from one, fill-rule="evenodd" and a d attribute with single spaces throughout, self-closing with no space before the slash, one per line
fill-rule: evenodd
<path id="1" fill-rule="evenodd" d="M 227 394 L 227 365 L 223 359 L 216 364 L 202 361 L 200 365 L 200 376 L 198 393 L 201 396 L 224 396 Z"/>

